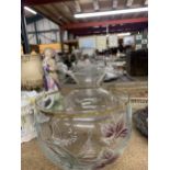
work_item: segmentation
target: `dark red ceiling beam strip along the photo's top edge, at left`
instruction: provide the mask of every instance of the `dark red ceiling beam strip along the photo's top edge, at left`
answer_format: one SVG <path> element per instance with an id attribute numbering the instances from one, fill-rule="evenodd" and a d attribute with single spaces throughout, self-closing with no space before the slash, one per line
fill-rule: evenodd
<path id="1" fill-rule="evenodd" d="M 58 3 L 65 1 L 73 1 L 73 0 L 22 0 L 22 3 L 24 5 L 39 5 L 39 4 Z"/>

